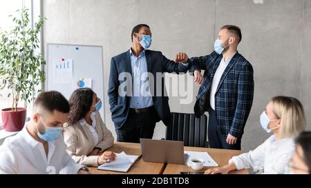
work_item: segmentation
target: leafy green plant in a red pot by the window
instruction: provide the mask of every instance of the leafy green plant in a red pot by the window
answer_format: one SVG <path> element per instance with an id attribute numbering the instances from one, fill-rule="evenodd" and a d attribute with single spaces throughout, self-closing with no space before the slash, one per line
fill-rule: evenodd
<path id="1" fill-rule="evenodd" d="M 10 31 L 0 31 L 0 90 L 7 88 L 8 97 L 12 97 L 12 106 L 1 109 L 3 128 L 8 132 L 23 128 L 26 105 L 33 100 L 35 87 L 45 80 L 41 70 L 45 61 L 39 52 L 38 39 L 44 20 L 39 17 L 32 28 L 28 9 L 17 10 Z M 24 107 L 18 107 L 20 101 L 24 101 Z"/>

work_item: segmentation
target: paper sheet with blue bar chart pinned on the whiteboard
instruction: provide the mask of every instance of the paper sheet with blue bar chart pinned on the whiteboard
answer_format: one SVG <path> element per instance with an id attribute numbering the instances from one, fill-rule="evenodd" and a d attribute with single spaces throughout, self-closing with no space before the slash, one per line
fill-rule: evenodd
<path id="1" fill-rule="evenodd" d="M 53 61 L 53 83 L 73 83 L 72 59 L 55 59 Z"/>

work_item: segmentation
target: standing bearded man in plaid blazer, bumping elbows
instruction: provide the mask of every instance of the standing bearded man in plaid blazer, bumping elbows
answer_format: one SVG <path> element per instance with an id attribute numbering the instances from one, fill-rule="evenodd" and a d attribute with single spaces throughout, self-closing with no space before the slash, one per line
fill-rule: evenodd
<path id="1" fill-rule="evenodd" d="M 176 55 L 176 62 L 192 64 L 194 80 L 200 84 L 194 112 L 197 117 L 209 112 L 211 148 L 241 149 L 254 96 L 253 67 L 237 51 L 241 39 L 240 28 L 225 25 L 218 33 L 215 51 L 211 54 L 191 59 L 185 53 Z M 200 70 L 205 70 L 204 76 Z"/>

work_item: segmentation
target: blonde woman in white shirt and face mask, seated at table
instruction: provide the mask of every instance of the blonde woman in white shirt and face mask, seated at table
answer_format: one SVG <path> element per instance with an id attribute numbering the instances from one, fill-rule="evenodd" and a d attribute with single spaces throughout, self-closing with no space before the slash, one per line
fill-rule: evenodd
<path id="1" fill-rule="evenodd" d="M 305 129 L 303 105 L 293 97 L 275 96 L 261 114 L 261 127 L 273 135 L 253 151 L 229 160 L 224 167 L 205 174 L 228 174 L 236 169 L 263 169 L 264 174 L 281 174 L 294 152 L 294 137 Z"/>

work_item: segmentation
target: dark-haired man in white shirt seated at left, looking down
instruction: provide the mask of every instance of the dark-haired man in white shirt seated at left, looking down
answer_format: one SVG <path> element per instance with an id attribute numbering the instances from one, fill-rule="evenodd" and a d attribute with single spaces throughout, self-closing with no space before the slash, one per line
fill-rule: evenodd
<path id="1" fill-rule="evenodd" d="M 42 92 L 30 122 L 0 146 L 0 174 L 88 174 L 68 156 L 62 136 L 69 104 L 59 92 Z"/>

